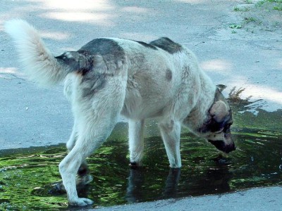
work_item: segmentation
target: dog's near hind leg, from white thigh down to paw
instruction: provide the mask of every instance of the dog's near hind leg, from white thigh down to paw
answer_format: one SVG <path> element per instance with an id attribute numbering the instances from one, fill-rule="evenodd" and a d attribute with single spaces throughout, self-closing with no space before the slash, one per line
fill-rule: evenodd
<path id="1" fill-rule="evenodd" d="M 104 87 L 94 91 L 88 90 L 87 84 L 78 84 L 77 98 L 73 101 L 78 139 L 73 149 L 59 164 L 63 186 L 71 205 L 85 206 L 93 203 L 90 199 L 78 198 L 75 175 L 85 158 L 99 148 L 114 129 L 123 108 L 125 82 L 122 77 L 106 76 Z"/>

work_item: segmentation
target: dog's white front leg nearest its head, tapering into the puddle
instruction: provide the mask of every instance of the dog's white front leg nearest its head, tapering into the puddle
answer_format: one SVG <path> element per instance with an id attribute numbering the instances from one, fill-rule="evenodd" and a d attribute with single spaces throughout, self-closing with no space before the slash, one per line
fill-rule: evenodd
<path id="1" fill-rule="evenodd" d="M 169 166 L 171 168 L 181 167 L 180 125 L 180 122 L 175 120 L 167 120 L 159 124 L 164 146 L 166 147 L 166 154 L 168 155 Z"/>

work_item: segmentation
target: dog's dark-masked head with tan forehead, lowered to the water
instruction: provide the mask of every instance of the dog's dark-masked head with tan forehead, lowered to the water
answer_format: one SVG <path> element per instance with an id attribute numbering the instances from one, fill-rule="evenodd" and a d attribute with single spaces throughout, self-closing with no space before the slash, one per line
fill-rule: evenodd
<path id="1" fill-rule="evenodd" d="M 232 111 L 221 94 L 221 89 L 222 87 L 216 89 L 214 103 L 209 108 L 204 123 L 197 129 L 197 134 L 207 139 L 220 151 L 229 153 L 235 150 L 230 130 L 233 124 Z"/>

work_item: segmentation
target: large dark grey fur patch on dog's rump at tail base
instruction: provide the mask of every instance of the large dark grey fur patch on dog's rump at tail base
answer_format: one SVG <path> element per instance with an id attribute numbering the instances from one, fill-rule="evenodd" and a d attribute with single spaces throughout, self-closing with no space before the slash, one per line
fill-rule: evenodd
<path id="1" fill-rule="evenodd" d="M 106 86 L 106 77 L 114 76 L 125 62 L 125 53 L 116 41 L 102 38 L 56 59 L 82 76 L 82 96 L 90 97 Z"/>

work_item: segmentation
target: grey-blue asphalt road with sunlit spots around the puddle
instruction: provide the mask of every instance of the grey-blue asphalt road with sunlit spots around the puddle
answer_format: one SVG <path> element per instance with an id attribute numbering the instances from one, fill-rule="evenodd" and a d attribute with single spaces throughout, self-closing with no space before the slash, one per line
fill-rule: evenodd
<path id="1" fill-rule="evenodd" d="M 277 11 L 231 0 L 0 0 L 0 5 L 0 150 L 65 143 L 73 122 L 62 86 L 42 89 L 20 72 L 11 38 L 4 33 L 4 22 L 12 18 L 35 25 L 54 55 L 79 49 L 97 37 L 141 41 L 170 37 L 196 53 L 214 83 L 228 86 L 226 94 L 243 87 L 242 97 L 264 99 L 265 110 L 282 107 L 282 17 Z M 137 206 L 138 210 L 234 210 L 231 205 L 238 210 L 282 210 L 280 187 L 240 193 Z"/>

